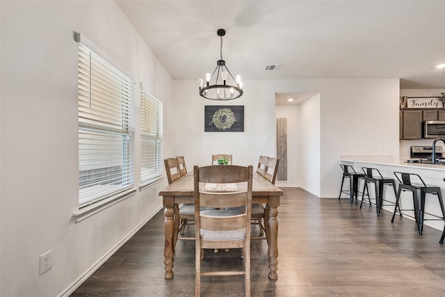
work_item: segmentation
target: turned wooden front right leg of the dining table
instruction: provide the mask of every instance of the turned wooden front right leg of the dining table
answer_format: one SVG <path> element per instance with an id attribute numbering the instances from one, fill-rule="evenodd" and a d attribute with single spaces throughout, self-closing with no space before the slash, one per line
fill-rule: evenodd
<path id="1" fill-rule="evenodd" d="M 266 232 L 269 256 L 269 278 L 270 280 L 277 280 L 278 269 L 278 209 L 269 206 L 268 215 L 268 232 Z"/>

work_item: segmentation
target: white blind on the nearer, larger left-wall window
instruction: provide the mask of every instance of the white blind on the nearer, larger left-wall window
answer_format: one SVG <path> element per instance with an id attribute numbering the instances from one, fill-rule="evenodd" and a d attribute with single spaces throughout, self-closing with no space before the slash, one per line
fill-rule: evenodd
<path id="1" fill-rule="evenodd" d="M 79 206 L 131 188 L 133 88 L 125 74 L 79 42 Z"/>

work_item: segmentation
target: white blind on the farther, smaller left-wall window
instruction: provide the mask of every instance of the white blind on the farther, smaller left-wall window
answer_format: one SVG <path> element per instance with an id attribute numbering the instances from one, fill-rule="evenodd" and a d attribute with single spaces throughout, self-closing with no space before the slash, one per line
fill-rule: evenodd
<path id="1" fill-rule="evenodd" d="M 162 176 L 162 102 L 140 90 L 140 182 Z"/>

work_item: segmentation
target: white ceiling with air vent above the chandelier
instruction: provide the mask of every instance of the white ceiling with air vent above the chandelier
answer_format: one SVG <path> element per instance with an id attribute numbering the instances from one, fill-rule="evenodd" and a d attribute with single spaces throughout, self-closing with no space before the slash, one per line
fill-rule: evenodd
<path id="1" fill-rule="evenodd" d="M 400 78 L 445 88 L 445 1 L 117 1 L 173 79 L 220 58 L 251 79 Z M 282 65 L 264 71 L 266 65 Z"/>

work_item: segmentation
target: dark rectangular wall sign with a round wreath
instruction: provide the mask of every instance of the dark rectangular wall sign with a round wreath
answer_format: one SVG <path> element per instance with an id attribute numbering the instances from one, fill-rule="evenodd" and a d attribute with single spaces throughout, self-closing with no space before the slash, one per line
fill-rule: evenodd
<path id="1" fill-rule="evenodd" d="M 244 106 L 204 106 L 204 131 L 243 132 Z"/>

